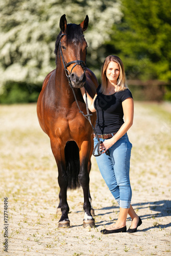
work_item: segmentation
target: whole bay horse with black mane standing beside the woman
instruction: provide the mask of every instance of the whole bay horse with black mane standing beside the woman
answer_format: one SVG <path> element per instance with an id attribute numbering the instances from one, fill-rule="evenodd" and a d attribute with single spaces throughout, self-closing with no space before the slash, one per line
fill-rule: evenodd
<path id="1" fill-rule="evenodd" d="M 58 169 L 60 228 L 70 227 L 67 189 L 80 185 L 84 198 L 83 227 L 95 226 L 89 191 L 93 130 L 89 120 L 82 115 L 86 113 L 86 104 L 79 89 L 86 86 L 94 97 L 98 87 L 96 76 L 86 65 L 88 45 L 83 32 L 88 24 L 88 15 L 79 25 L 67 24 L 65 14 L 60 17 L 60 33 L 54 51 L 56 69 L 45 77 L 37 100 L 38 121 L 50 138 Z M 90 114 L 94 125 L 96 114 Z"/>

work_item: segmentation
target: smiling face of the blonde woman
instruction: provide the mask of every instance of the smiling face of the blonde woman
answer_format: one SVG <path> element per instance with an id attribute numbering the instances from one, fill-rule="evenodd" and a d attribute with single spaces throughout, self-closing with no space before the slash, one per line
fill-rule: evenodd
<path id="1" fill-rule="evenodd" d="M 111 61 L 106 69 L 106 77 L 111 83 L 117 84 L 117 80 L 120 74 L 119 65 L 117 62 Z"/>

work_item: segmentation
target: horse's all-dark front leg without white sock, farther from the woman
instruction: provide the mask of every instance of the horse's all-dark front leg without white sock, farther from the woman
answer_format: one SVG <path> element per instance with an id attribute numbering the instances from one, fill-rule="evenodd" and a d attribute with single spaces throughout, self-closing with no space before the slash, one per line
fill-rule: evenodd
<path id="1" fill-rule="evenodd" d="M 60 187 L 61 218 L 58 227 L 70 227 L 68 218 L 69 206 L 67 203 L 68 175 L 66 173 L 64 146 L 51 141 L 51 148 L 58 167 L 58 184 Z"/>

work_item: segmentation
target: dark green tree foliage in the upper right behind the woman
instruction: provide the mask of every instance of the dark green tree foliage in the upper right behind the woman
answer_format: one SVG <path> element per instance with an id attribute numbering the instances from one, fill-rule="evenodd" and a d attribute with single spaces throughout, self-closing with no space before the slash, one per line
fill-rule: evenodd
<path id="1" fill-rule="evenodd" d="M 114 24 L 107 53 L 118 54 L 128 79 L 171 79 L 170 0 L 121 0 L 123 17 Z"/>

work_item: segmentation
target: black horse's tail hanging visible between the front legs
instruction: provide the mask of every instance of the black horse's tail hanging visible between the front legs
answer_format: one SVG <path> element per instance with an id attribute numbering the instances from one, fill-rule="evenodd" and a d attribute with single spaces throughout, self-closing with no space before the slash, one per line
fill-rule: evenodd
<path id="1" fill-rule="evenodd" d="M 66 171 L 68 175 L 68 188 L 75 189 L 80 186 L 79 174 L 79 148 L 75 141 L 68 141 L 65 147 Z"/>

